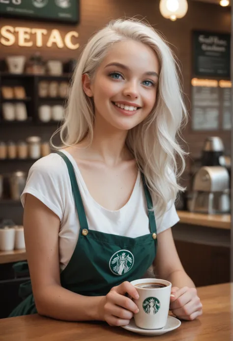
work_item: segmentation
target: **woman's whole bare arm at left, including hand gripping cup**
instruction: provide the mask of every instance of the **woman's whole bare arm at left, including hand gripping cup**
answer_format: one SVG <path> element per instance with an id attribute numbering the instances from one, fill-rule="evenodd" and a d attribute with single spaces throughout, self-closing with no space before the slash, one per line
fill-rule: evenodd
<path id="1" fill-rule="evenodd" d="M 60 220 L 34 196 L 27 194 L 24 230 L 30 278 L 36 309 L 40 315 L 61 320 L 104 320 L 110 325 L 127 325 L 138 311 L 125 293 L 138 298 L 128 282 L 114 287 L 106 296 L 83 296 L 61 287 L 58 232 Z"/>

